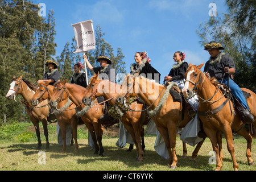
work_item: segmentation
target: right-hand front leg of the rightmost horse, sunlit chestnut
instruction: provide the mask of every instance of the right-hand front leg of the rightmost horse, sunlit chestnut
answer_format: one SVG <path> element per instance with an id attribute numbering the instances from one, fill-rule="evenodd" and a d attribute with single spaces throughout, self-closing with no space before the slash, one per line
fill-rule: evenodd
<path id="1" fill-rule="evenodd" d="M 226 143 L 228 144 L 228 151 L 231 155 L 232 161 L 233 161 L 233 168 L 234 171 L 238 170 L 238 164 L 236 161 L 236 158 L 234 156 L 234 146 L 233 146 L 233 134 L 230 125 L 225 125 L 223 128 L 223 132 L 226 138 Z"/>

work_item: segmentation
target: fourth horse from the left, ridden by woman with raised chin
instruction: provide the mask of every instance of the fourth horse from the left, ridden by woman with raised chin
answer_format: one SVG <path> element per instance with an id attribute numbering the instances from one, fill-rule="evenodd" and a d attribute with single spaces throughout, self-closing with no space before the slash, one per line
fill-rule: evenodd
<path id="1" fill-rule="evenodd" d="M 90 84 L 87 86 L 86 92 L 84 93 L 84 98 L 82 98 L 82 102 L 86 105 L 91 105 L 91 102 L 95 100 L 97 97 L 103 96 L 106 101 L 110 103 L 110 105 L 114 106 L 115 104 L 115 96 L 119 93 L 121 85 L 115 84 L 109 80 L 98 80 L 98 75 L 94 74 L 92 78 L 90 78 Z M 133 101 L 129 108 L 133 110 L 142 110 L 143 104 L 137 101 Z M 120 109 L 119 111 L 121 111 Z M 122 112 L 122 111 L 121 111 Z M 138 155 L 137 160 L 143 160 L 143 143 L 144 143 L 144 133 L 143 133 L 143 125 L 146 125 L 150 118 L 147 117 L 146 111 L 127 111 L 126 113 L 121 113 L 120 120 L 123 125 L 131 134 L 133 141 L 135 143 Z M 141 144 L 142 137 L 142 144 Z M 143 147 L 142 147 L 143 146 Z"/>

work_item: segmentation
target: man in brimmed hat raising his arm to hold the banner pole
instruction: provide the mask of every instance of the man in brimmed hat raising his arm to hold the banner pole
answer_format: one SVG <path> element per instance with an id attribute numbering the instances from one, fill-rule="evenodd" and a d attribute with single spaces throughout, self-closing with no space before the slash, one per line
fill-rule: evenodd
<path id="1" fill-rule="evenodd" d="M 88 59 L 86 55 L 82 56 L 83 59 L 85 59 L 86 64 L 88 65 L 88 68 L 90 69 L 90 71 L 93 71 L 94 73 L 99 74 L 99 78 L 102 80 L 110 80 L 112 82 L 115 82 L 115 78 L 117 77 L 117 73 L 115 72 L 115 69 L 112 67 L 112 61 L 109 59 L 109 57 L 107 56 L 98 56 L 96 61 L 98 61 L 100 63 L 100 67 L 93 67 Z M 104 98 L 98 97 L 98 102 L 103 102 Z M 106 102 L 106 104 L 108 105 L 109 103 Z M 110 117 L 110 115 L 108 113 L 102 114 L 101 117 L 99 118 L 100 122 L 109 122 L 109 121 L 114 121 L 114 118 Z"/>

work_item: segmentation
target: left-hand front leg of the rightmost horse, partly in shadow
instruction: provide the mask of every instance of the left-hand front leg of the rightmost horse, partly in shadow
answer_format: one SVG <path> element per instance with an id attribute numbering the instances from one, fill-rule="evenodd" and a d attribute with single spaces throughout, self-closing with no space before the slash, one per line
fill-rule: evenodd
<path id="1" fill-rule="evenodd" d="M 207 136 L 210 139 L 210 142 L 212 143 L 213 151 L 216 154 L 216 168 L 215 171 L 220 171 L 222 168 L 222 163 L 220 160 L 220 154 L 218 152 L 218 143 L 217 143 L 217 137 L 216 137 L 216 130 L 210 129 L 207 126 L 204 125 L 204 131 L 207 134 Z"/>

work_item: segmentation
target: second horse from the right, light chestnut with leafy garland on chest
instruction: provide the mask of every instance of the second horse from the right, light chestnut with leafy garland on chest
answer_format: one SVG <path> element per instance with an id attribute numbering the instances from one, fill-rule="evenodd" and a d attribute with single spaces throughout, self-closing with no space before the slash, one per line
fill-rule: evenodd
<path id="1" fill-rule="evenodd" d="M 166 88 L 152 80 L 139 77 L 137 73 L 133 76 L 128 74 L 123 80 L 121 92 L 115 101 L 118 104 L 123 104 L 127 95 L 134 97 L 138 94 L 141 97 L 150 109 L 148 113 L 166 143 L 170 160 L 168 166 L 175 169 L 177 167 L 176 127 L 184 127 L 191 117 L 188 112 L 184 112 L 184 117 L 181 118 L 181 104 L 175 102 L 169 93 L 171 86 L 172 84 Z"/>

